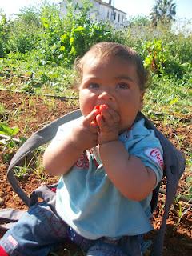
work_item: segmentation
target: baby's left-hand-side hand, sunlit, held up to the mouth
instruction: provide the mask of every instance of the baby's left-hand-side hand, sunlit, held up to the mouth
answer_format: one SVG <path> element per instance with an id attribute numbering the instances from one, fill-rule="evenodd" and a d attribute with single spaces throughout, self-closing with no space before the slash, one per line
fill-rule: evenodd
<path id="1" fill-rule="evenodd" d="M 95 120 L 97 110 L 93 110 L 86 117 L 79 118 L 76 126 L 71 131 L 71 141 L 78 150 L 88 150 L 98 145 L 98 125 Z"/>

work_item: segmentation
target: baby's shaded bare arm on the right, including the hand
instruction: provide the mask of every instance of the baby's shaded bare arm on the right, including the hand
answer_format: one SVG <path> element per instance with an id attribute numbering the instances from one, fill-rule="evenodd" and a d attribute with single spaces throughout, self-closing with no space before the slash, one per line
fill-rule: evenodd
<path id="1" fill-rule="evenodd" d="M 102 116 L 97 116 L 97 122 L 100 128 L 99 151 L 108 177 L 126 198 L 141 201 L 154 190 L 154 171 L 144 166 L 139 158 L 130 155 L 122 142 L 118 141 L 117 112 L 103 109 Z"/>

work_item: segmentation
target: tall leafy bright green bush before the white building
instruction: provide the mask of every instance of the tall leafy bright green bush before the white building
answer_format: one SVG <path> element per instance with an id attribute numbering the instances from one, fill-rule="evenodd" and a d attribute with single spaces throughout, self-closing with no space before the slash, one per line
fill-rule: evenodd
<path id="1" fill-rule="evenodd" d="M 51 62 L 71 66 L 94 42 L 118 38 L 108 23 L 90 21 L 91 8 L 87 0 L 82 1 L 82 6 L 68 1 L 64 17 L 60 17 L 56 7 L 42 8 L 42 39 L 34 54 L 40 65 Z"/>

